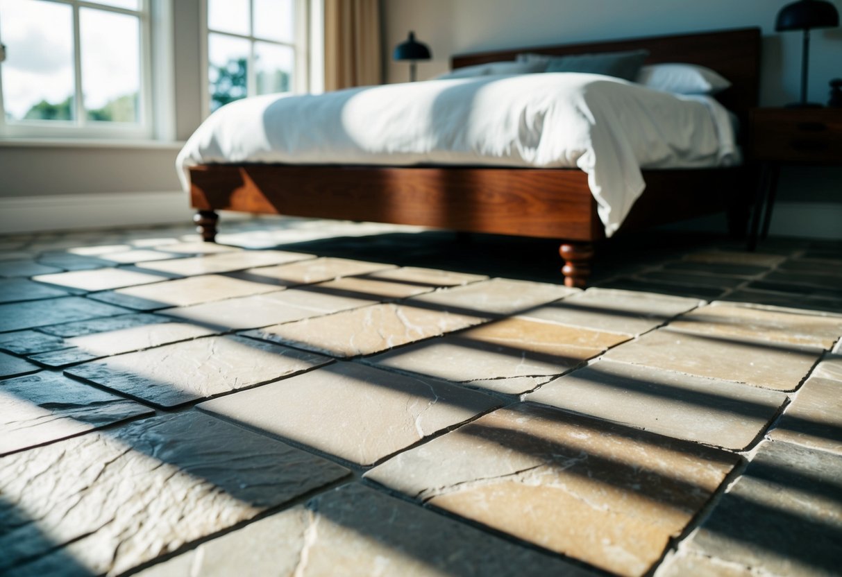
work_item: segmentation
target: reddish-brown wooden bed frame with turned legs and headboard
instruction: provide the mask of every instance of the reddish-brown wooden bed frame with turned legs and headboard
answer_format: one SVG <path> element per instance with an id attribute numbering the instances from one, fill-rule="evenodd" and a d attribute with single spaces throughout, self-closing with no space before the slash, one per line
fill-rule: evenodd
<path id="1" fill-rule="evenodd" d="M 514 60 L 520 52 L 565 55 L 646 48 L 647 63 L 708 66 L 733 83 L 717 95 L 743 121 L 757 105 L 760 31 L 734 29 L 592 44 L 530 47 L 454 56 L 452 67 Z M 617 234 L 726 209 L 734 233 L 745 230 L 749 189 L 743 169 L 643 171 L 646 190 Z M 213 164 L 190 168 L 195 222 L 216 236 L 216 210 L 555 238 L 562 241 L 568 286 L 584 286 L 594 241 L 605 238 L 577 169 L 370 167 Z"/>

